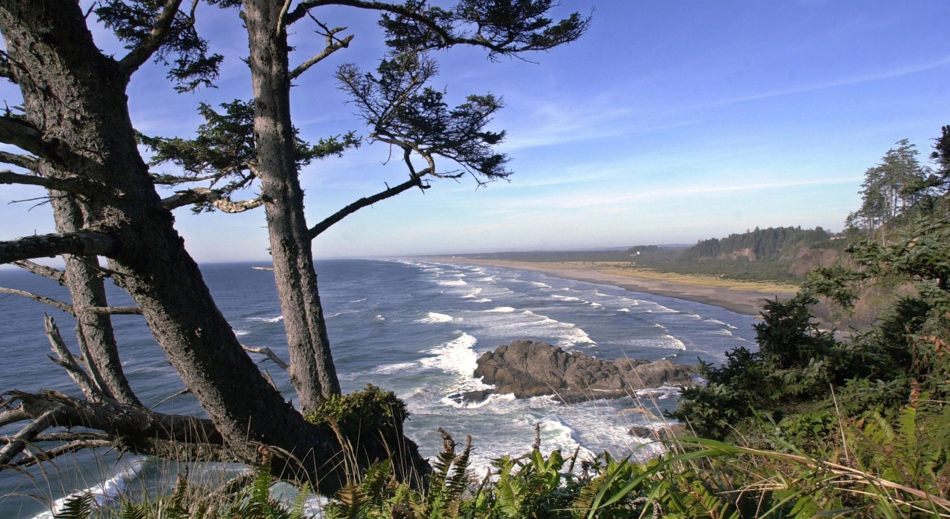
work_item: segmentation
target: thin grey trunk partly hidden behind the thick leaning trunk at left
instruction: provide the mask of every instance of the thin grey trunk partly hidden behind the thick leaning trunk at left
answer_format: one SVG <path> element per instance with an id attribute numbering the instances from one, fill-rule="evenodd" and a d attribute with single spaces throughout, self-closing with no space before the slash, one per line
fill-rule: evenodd
<path id="1" fill-rule="evenodd" d="M 42 169 L 41 175 L 45 173 Z M 85 227 L 85 212 L 78 200 L 60 191 L 51 191 L 50 196 L 57 232 L 75 232 Z M 76 316 L 76 339 L 92 381 L 106 397 L 141 406 L 125 379 L 111 318 L 86 310 L 90 306 L 108 306 L 99 257 L 65 254 L 64 258 L 64 281 Z"/>

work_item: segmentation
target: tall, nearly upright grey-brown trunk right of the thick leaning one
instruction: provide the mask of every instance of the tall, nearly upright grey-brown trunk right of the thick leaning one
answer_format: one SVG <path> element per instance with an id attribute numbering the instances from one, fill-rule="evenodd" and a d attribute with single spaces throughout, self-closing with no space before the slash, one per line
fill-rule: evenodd
<path id="1" fill-rule="evenodd" d="M 304 411 L 340 393 L 317 292 L 314 256 L 297 179 L 283 0 L 245 0 L 251 46 L 257 177 L 265 200 L 277 295 L 287 330 L 291 380 Z"/>

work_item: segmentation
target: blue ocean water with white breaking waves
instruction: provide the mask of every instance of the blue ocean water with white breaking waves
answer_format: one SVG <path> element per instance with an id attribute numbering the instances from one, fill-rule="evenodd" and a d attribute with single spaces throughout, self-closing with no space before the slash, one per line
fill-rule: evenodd
<path id="1" fill-rule="evenodd" d="M 255 264 L 202 267 L 218 306 L 242 343 L 271 347 L 287 359 L 273 273 Z M 583 351 L 602 359 L 624 356 L 694 363 L 724 360 L 724 352 L 752 345 L 750 316 L 667 297 L 631 292 L 494 267 L 406 260 L 327 260 L 316 269 L 340 383 L 345 392 L 368 382 L 394 391 L 409 406 L 406 433 L 424 455 L 438 453 L 445 428 L 457 441 L 471 435 L 473 468 L 484 473 L 502 454 L 530 450 L 540 424 L 542 451 L 624 455 L 643 438 L 627 435 L 643 423 L 635 399 L 565 405 L 554 398 L 491 396 L 462 405 L 449 396 L 485 387 L 471 377 L 478 357 L 500 344 L 531 339 Z M 67 300 L 66 289 L 16 270 L 0 271 L 0 286 Z M 131 305 L 110 287 L 112 305 Z M 66 373 L 46 358 L 43 312 L 59 324 L 73 346 L 74 321 L 64 312 L 19 296 L 0 295 L 0 390 L 57 389 L 78 394 Z M 147 406 L 167 413 L 199 414 L 190 396 L 160 402 L 183 386 L 140 316 L 115 316 L 116 335 L 128 379 Z M 257 357 L 256 357 L 257 358 Z M 293 395 L 286 374 L 270 361 L 259 364 L 278 388 Z M 675 388 L 642 392 L 660 409 L 676 405 Z M 7 436 L 14 428 L 0 428 Z M 649 447 L 638 454 L 647 454 Z M 123 491 L 155 489 L 174 482 L 182 468 L 115 453 L 79 453 L 56 468 L 0 472 L 0 517 L 35 517 L 48 502 L 72 491 L 95 488 L 104 501 Z M 233 473 L 237 466 L 192 468 L 192 473 Z"/>

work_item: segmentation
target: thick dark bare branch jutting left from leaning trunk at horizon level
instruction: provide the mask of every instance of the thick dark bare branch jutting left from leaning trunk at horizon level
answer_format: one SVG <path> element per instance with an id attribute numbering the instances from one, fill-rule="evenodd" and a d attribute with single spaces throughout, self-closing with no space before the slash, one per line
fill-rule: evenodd
<path id="1" fill-rule="evenodd" d="M 118 241 L 104 232 L 77 231 L 24 236 L 0 242 L 0 265 L 60 254 L 107 256 L 118 248 Z"/>

